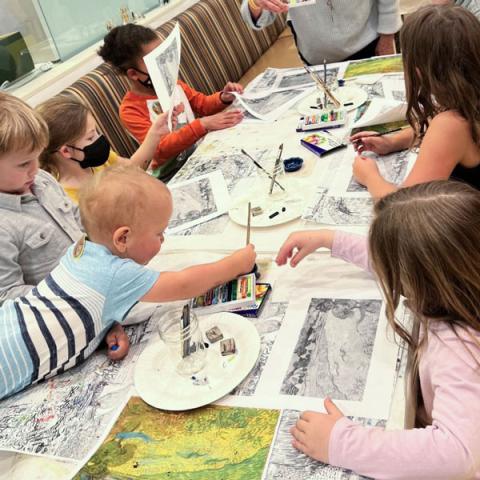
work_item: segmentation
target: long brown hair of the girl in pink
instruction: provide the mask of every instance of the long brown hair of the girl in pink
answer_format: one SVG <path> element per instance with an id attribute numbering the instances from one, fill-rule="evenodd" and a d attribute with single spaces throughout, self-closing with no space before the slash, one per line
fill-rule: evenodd
<path id="1" fill-rule="evenodd" d="M 418 362 L 430 325 L 442 322 L 459 339 L 462 334 L 480 347 L 472 333 L 480 332 L 480 192 L 460 182 L 418 184 L 380 199 L 375 214 L 372 266 L 388 322 L 410 347 L 410 400 L 416 407 Z M 395 317 L 401 297 L 414 317 L 412 332 Z M 480 359 L 463 344 L 480 367 Z"/>

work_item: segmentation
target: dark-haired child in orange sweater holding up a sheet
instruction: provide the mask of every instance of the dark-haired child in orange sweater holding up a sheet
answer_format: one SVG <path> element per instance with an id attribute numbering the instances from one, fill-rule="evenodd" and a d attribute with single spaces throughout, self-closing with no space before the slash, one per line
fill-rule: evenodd
<path id="1" fill-rule="evenodd" d="M 120 105 L 120 119 L 127 130 L 143 142 L 152 124 L 151 109 L 157 95 L 143 57 L 157 48 L 162 40 L 154 30 L 141 25 L 127 24 L 114 28 L 104 39 L 98 54 L 126 75 L 130 90 Z M 200 118 L 162 138 L 155 152 L 152 168 L 158 168 L 162 180 L 170 179 L 193 151 L 195 142 L 208 131 L 237 125 L 243 118 L 240 110 L 225 108 L 235 99 L 232 92 L 242 93 L 237 83 L 227 83 L 221 92 L 204 95 L 186 83 L 178 81 L 190 106 Z M 149 108 L 149 105 L 150 108 Z"/>

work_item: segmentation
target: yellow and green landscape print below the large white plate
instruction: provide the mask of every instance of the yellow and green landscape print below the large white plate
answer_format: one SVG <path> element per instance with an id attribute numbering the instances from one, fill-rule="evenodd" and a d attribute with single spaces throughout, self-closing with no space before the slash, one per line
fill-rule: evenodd
<path id="1" fill-rule="evenodd" d="M 280 412 L 164 412 L 132 397 L 80 480 L 260 480 Z"/>

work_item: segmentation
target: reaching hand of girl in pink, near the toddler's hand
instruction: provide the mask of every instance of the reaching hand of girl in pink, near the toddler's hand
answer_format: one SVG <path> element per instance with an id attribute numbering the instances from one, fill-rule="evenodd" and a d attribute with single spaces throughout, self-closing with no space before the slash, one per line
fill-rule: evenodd
<path id="1" fill-rule="evenodd" d="M 289 258 L 290 266 L 296 267 L 307 255 L 317 248 L 332 248 L 333 230 L 305 230 L 291 233 L 278 251 L 277 265 L 285 265 Z"/>

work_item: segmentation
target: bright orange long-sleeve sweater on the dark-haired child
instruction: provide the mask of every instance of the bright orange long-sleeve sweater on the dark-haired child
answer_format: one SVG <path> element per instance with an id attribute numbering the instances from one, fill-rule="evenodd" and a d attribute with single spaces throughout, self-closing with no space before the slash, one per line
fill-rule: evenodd
<path id="1" fill-rule="evenodd" d="M 220 92 L 205 95 L 189 87 L 186 83 L 178 81 L 190 102 L 192 110 L 199 116 L 213 115 L 227 107 L 220 99 Z M 147 100 L 156 100 L 155 95 L 139 95 L 128 91 L 120 104 L 120 119 L 125 128 L 142 143 L 148 133 L 152 122 L 148 111 Z M 162 138 L 158 144 L 152 167 L 156 168 L 179 153 L 191 147 L 202 138 L 207 131 L 200 119 L 170 133 Z"/>

